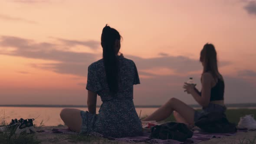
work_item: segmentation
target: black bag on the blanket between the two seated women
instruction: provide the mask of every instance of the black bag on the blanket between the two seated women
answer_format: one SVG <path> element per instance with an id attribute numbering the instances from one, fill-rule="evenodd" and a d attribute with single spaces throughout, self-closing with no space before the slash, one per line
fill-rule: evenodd
<path id="1" fill-rule="evenodd" d="M 151 128 L 150 138 L 185 141 L 187 140 L 187 138 L 191 138 L 192 135 L 193 132 L 189 128 L 187 128 L 186 124 L 169 122 L 161 125 L 156 125 Z"/>

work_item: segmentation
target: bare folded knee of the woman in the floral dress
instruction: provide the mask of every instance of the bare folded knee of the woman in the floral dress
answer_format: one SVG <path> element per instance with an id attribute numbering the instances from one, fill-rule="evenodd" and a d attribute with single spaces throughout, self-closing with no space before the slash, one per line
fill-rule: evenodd
<path id="1" fill-rule="evenodd" d="M 64 108 L 59 114 L 62 121 L 75 132 L 80 132 L 82 126 L 80 111 L 75 108 Z"/>

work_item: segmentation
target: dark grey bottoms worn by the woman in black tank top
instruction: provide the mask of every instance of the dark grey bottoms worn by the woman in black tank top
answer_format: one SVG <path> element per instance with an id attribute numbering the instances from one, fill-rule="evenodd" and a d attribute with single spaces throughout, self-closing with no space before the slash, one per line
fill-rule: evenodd
<path id="1" fill-rule="evenodd" d="M 225 111 L 225 106 L 210 103 L 206 108 L 203 108 L 202 111 L 195 111 L 194 122 L 196 122 L 200 117 L 207 115 L 211 112 L 225 113 Z"/>

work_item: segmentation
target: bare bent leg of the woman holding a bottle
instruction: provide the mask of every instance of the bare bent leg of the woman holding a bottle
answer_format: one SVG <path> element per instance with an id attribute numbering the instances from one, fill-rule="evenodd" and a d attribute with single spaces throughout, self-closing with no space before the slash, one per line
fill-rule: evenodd
<path id="1" fill-rule="evenodd" d="M 187 123 L 194 124 L 195 110 L 177 98 L 171 98 L 166 104 L 142 121 L 163 121 L 168 118 L 173 111 L 177 111 Z"/>

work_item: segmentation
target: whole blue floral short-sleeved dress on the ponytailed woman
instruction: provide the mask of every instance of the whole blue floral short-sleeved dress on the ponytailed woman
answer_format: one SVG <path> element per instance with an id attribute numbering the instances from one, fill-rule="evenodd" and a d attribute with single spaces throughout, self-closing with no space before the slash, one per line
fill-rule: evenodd
<path id="1" fill-rule="evenodd" d="M 112 137 L 141 134 L 141 121 L 133 103 L 133 85 L 139 83 L 135 63 L 118 56 L 118 91 L 112 95 L 103 59 L 89 66 L 86 89 L 96 92 L 102 99 L 99 114 L 93 118 L 92 131 Z"/>

